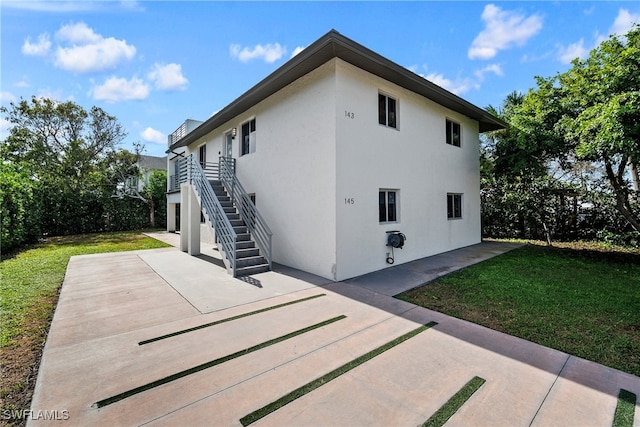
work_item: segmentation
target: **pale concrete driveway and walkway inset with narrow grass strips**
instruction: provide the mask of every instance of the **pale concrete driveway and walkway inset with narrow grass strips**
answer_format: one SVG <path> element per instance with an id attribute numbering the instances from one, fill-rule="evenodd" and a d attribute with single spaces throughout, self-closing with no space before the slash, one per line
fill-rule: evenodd
<path id="1" fill-rule="evenodd" d="M 252 425 L 415 426 L 474 376 L 486 383 L 447 425 L 611 426 L 620 389 L 640 396 L 636 376 L 385 295 L 401 283 L 330 283 L 279 266 L 238 280 L 203 252 L 73 257 L 28 424 L 241 425 L 427 322 L 437 325 Z"/>

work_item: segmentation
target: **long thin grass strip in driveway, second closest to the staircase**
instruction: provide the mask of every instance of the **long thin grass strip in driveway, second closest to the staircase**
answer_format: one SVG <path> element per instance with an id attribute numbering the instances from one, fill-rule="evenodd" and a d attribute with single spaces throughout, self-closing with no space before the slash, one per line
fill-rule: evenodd
<path id="1" fill-rule="evenodd" d="M 298 335 L 304 334 L 306 332 L 310 332 L 314 329 L 321 328 L 323 326 L 329 325 L 331 323 L 337 322 L 339 320 L 345 319 L 347 316 L 340 315 L 333 317 L 331 319 L 325 320 L 324 322 L 316 323 L 315 325 L 307 326 L 306 328 L 298 329 L 297 331 L 290 332 L 286 335 L 282 335 L 278 338 L 271 339 L 269 341 L 265 341 L 263 343 L 254 345 L 252 347 L 246 348 L 244 350 L 237 351 L 228 356 L 221 357 L 219 359 L 212 360 L 211 362 L 203 363 L 202 365 L 195 366 L 193 368 L 186 369 L 184 371 L 175 373 L 173 375 L 169 375 L 168 377 L 161 378 L 159 380 L 153 381 L 151 383 L 142 385 L 140 387 L 133 388 L 131 390 L 125 391 L 120 394 L 116 394 L 115 396 L 109 397 L 107 399 L 100 400 L 99 402 L 94 403 L 94 407 L 102 408 L 107 405 L 111 405 L 112 403 L 119 402 L 120 400 L 131 397 L 135 394 L 142 393 L 143 391 L 151 390 L 152 388 L 161 386 L 163 384 L 167 384 L 171 381 L 178 380 L 180 378 L 186 377 L 187 375 L 195 374 L 196 372 L 200 372 L 204 369 L 211 368 L 216 365 L 220 365 L 221 363 L 228 362 L 229 360 L 235 359 L 240 356 L 244 356 L 245 354 L 253 353 L 254 351 L 258 351 L 270 345 L 277 344 L 279 342 L 288 340 L 290 338 L 296 337 Z"/>

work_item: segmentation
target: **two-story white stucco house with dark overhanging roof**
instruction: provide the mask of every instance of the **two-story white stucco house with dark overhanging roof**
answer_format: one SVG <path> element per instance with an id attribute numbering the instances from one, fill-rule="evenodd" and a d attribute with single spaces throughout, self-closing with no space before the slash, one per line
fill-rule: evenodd
<path id="1" fill-rule="evenodd" d="M 169 137 L 167 211 L 179 212 L 183 250 L 197 253 L 189 236 L 200 227 L 187 205 L 202 195 L 178 187 L 172 171 L 191 154 L 230 156 L 271 230 L 273 262 L 344 280 L 391 258 L 479 243 L 479 133 L 504 126 L 330 31 L 207 121 L 185 122 Z M 168 215 L 169 230 L 176 217 Z M 390 231 L 406 236 L 402 249 L 387 245 Z"/>

